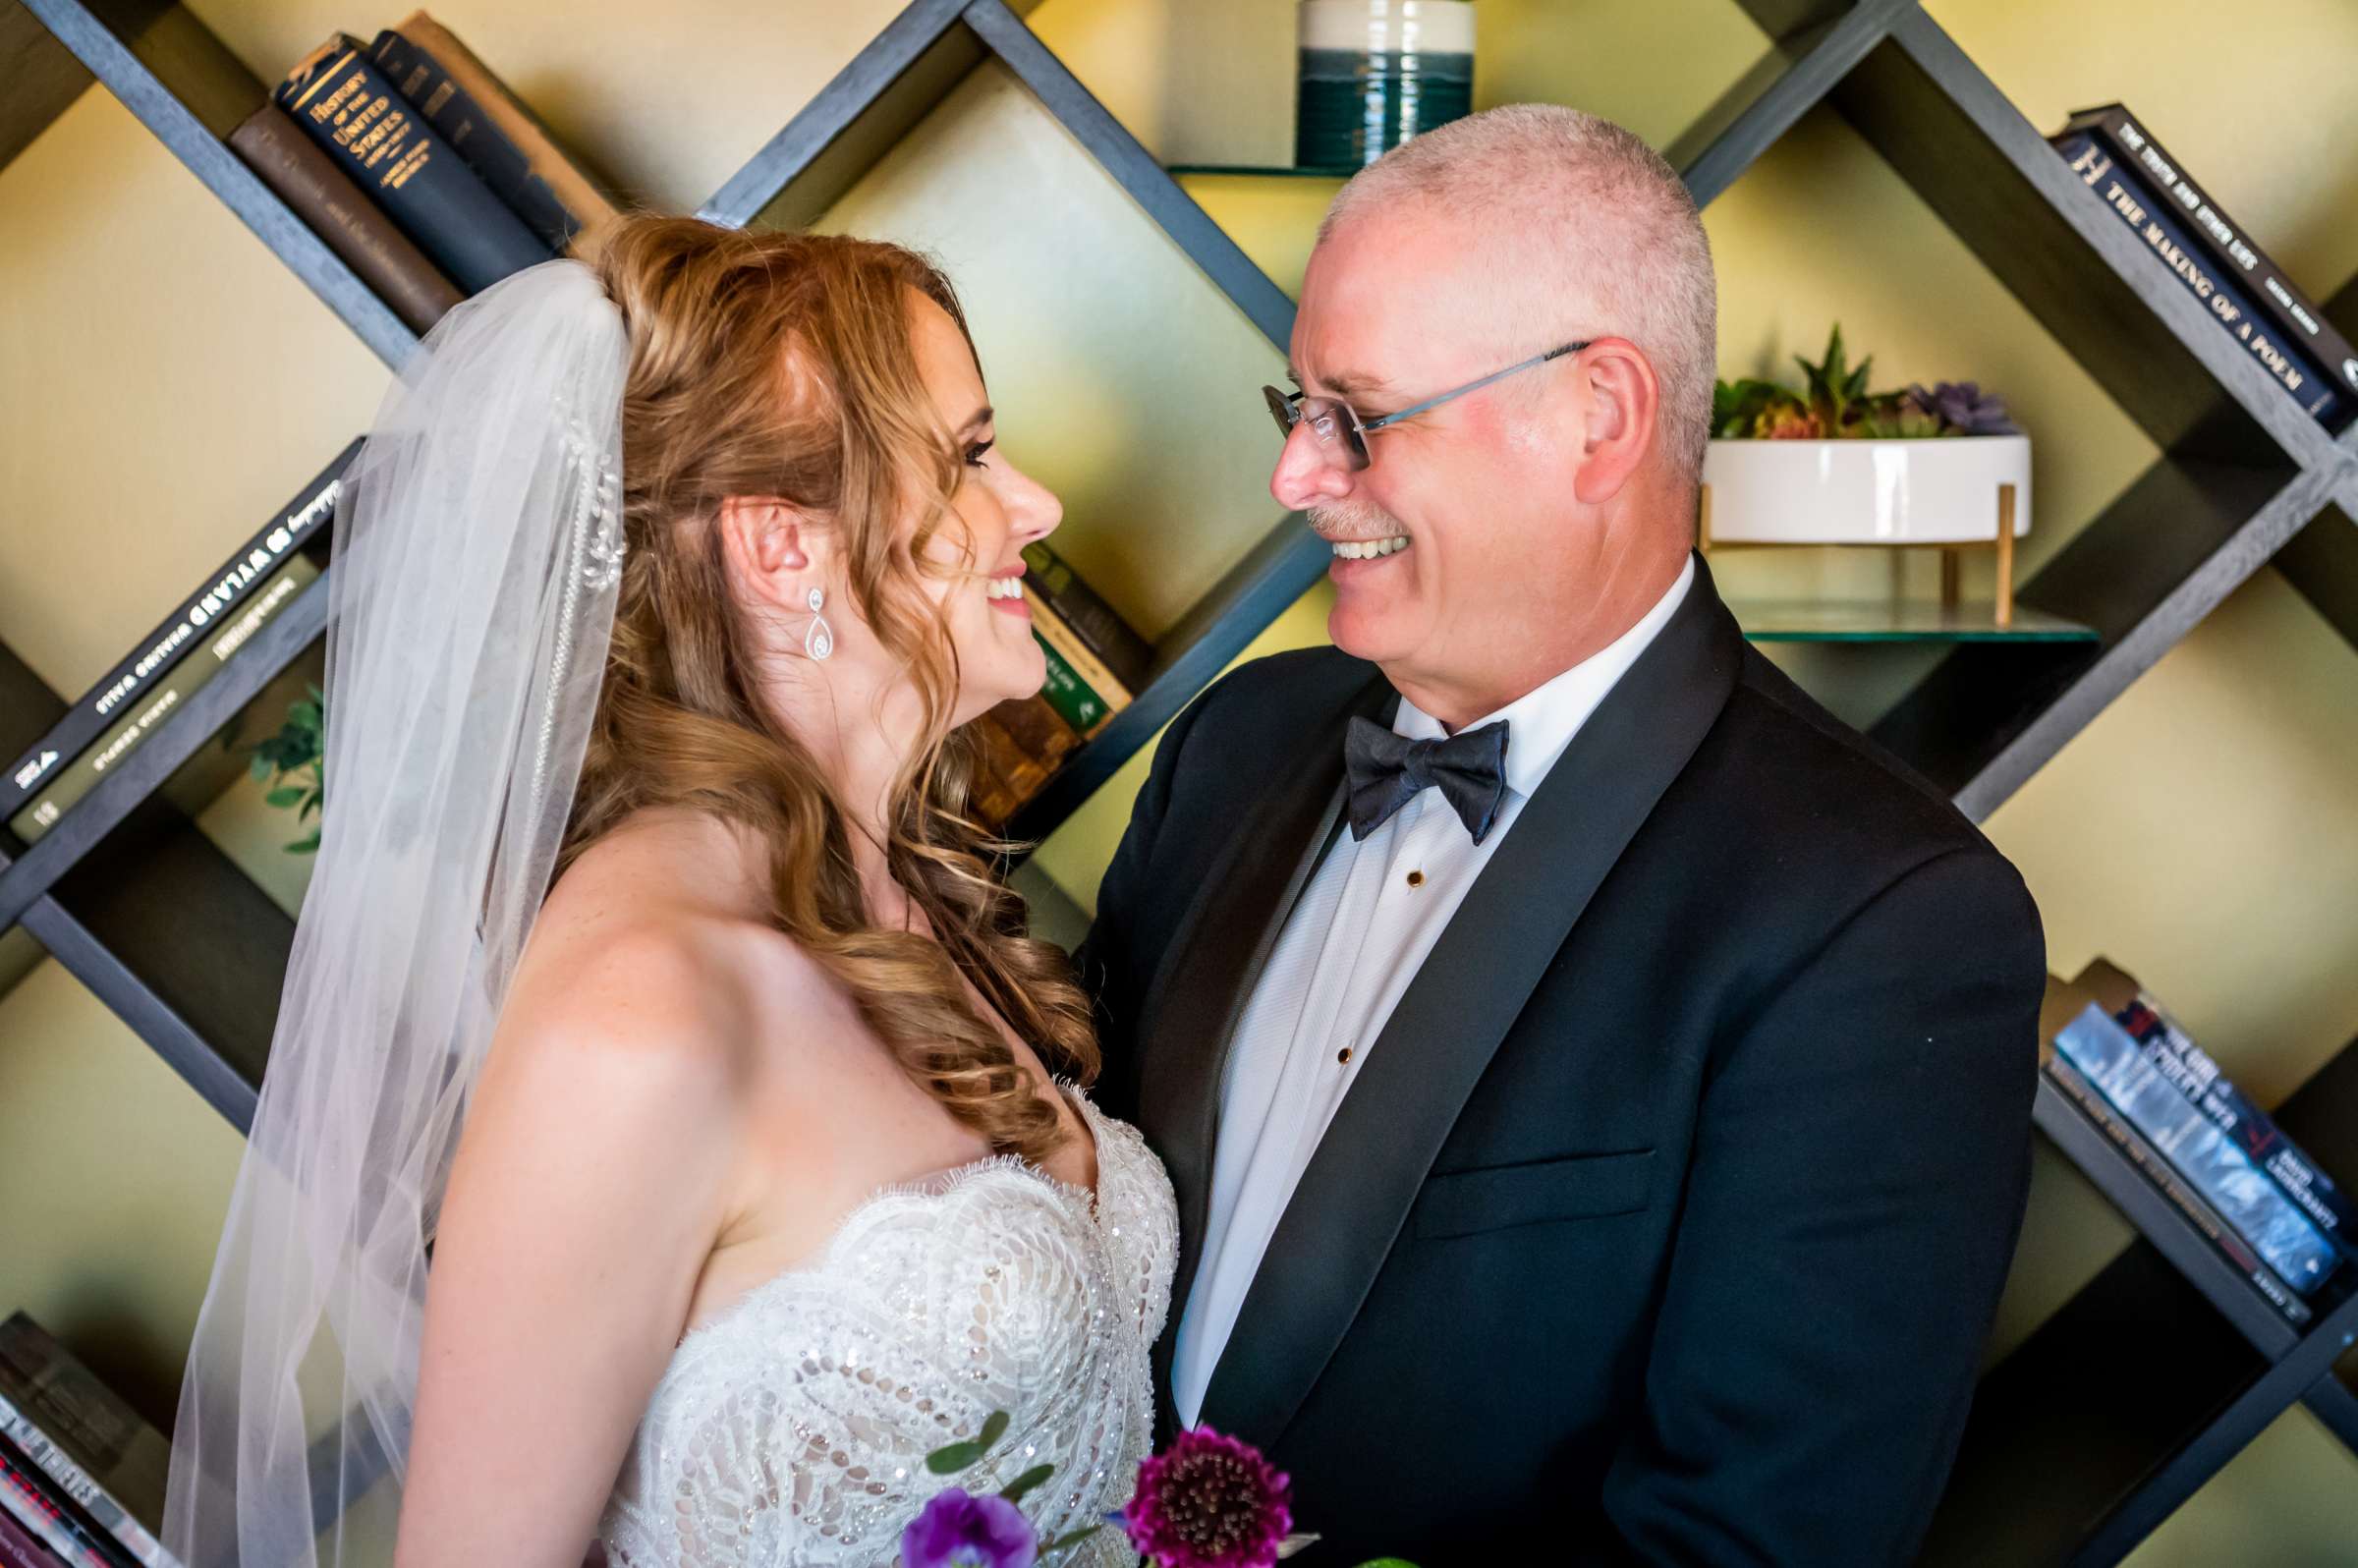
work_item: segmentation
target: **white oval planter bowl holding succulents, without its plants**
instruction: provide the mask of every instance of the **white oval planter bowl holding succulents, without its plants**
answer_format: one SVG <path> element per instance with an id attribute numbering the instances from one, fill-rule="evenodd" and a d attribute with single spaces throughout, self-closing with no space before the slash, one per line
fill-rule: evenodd
<path id="1" fill-rule="evenodd" d="M 2030 533 L 2030 436 L 1712 441 L 1712 545 L 1988 545 Z"/>

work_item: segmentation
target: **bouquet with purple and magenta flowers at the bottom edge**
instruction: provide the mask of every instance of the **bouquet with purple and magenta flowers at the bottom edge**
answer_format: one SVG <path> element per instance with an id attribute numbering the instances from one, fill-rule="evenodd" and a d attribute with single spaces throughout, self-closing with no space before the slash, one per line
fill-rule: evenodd
<path id="1" fill-rule="evenodd" d="M 993 1412 L 971 1443 L 953 1443 L 927 1455 L 936 1476 L 974 1469 L 990 1445 L 1007 1436 L 1007 1412 Z M 1094 1537 L 1120 1528 L 1155 1568 L 1271 1568 L 1316 1542 L 1295 1533 L 1292 1488 L 1262 1452 L 1243 1438 L 1193 1427 L 1170 1448 L 1139 1464 L 1139 1488 L 1118 1514 L 1085 1530 L 1040 1540 L 1016 1507 L 1045 1483 L 1054 1467 L 1038 1464 L 995 1495 L 946 1488 L 901 1533 L 901 1568 L 1035 1568 Z M 1384 1556 L 1361 1568 L 1415 1568 Z"/>

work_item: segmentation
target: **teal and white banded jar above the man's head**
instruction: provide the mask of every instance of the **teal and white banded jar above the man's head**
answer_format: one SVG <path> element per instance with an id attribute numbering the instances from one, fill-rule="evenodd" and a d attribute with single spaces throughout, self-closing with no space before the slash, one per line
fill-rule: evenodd
<path id="1" fill-rule="evenodd" d="M 1474 0 L 1302 0 L 1295 165 L 1349 170 L 1474 108 Z"/>

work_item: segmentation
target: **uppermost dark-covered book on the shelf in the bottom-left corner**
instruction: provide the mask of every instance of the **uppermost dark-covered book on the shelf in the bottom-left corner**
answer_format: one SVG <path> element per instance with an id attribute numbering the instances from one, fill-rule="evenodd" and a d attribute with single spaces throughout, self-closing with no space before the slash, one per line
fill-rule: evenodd
<path id="1" fill-rule="evenodd" d="M 149 1568 L 182 1568 L 163 1549 L 172 1445 L 31 1316 L 0 1323 L 0 1436 Z"/>

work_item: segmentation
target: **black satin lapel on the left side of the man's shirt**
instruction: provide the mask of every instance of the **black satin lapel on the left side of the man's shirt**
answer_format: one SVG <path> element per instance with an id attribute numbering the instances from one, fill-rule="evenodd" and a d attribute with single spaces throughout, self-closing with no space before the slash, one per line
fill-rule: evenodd
<path id="1" fill-rule="evenodd" d="M 1391 686 L 1375 677 L 1356 700 L 1311 726 L 1290 757 L 1250 759 L 1250 766 L 1271 769 L 1276 785 L 1212 861 L 1139 1009 L 1146 1019 L 1139 1132 L 1162 1155 L 1179 1198 L 1174 1323 L 1196 1276 L 1212 1200 L 1212 1134 L 1229 1037 L 1342 813 L 1344 729 L 1353 714 L 1382 712 L 1389 722 L 1396 703 Z M 1170 1335 L 1155 1353 L 1158 1372 L 1167 1372 L 1160 1361 L 1170 1356 Z"/>

